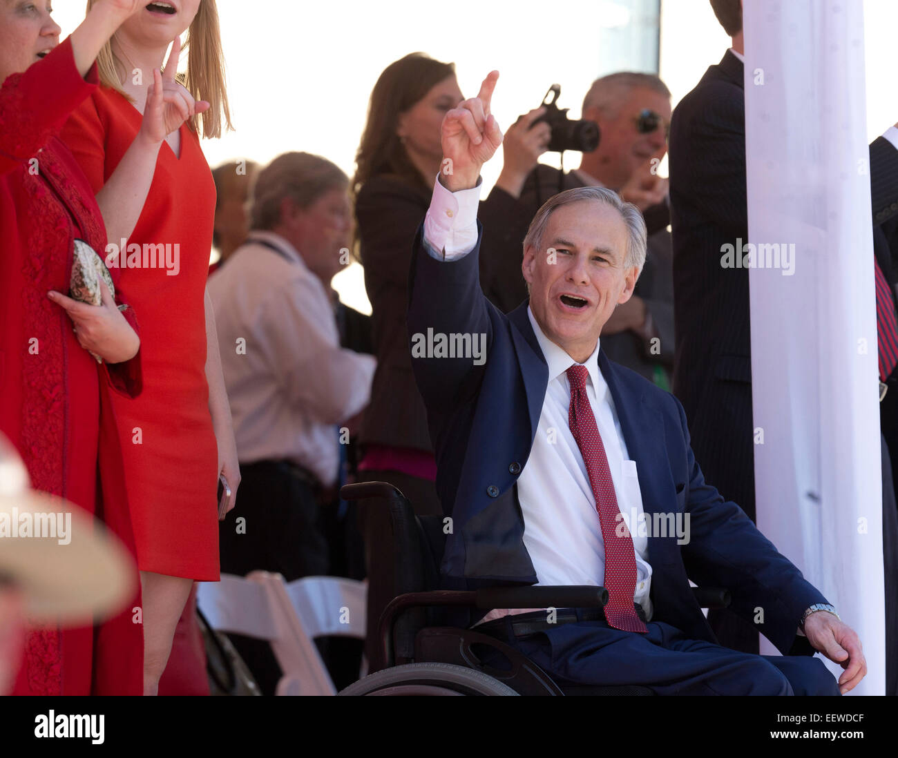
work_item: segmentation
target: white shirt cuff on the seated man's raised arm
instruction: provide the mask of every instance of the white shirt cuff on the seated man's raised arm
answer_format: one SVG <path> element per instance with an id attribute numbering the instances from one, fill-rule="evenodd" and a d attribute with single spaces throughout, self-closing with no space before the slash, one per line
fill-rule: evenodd
<path id="1" fill-rule="evenodd" d="M 477 210 L 482 186 L 483 179 L 477 179 L 476 187 L 450 192 L 437 174 L 434 195 L 424 217 L 424 242 L 432 257 L 458 260 L 477 245 Z"/>

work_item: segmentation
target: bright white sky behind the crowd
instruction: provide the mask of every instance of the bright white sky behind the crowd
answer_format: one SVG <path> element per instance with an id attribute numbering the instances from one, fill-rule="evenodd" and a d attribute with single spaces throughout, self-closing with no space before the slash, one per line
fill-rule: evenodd
<path id="1" fill-rule="evenodd" d="M 892 94 L 898 4 L 863 2 L 872 139 L 898 121 Z M 56 0 L 54 17 L 64 36 L 83 18 L 85 6 L 84 0 Z M 238 158 L 264 164 L 281 152 L 300 150 L 325 156 L 349 176 L 374 82 L 397 58 L 421 50 L 454 61 L 466 96 L 475 95 L 483 77 L 497 68 L 493 112 L 503 127 L 539 105 L 556 82 L 562 85 L 559 104 L 578 118 L 589 84 L 607 73 L 599 34 L 634 21 L 613 0 L 514 5 L 504 0 L 218 0 L 218 8 L 236 131 L 204 143 L 209 164 Z M 457 21 L 445 20 L 450 8 Z M 660 74 L 674 104 L 728 46 L 708 0 L 662 0 Z M 871 97 L 871 92 L 883 94 Z M 568 167 L 577 166 L 575 153 L 567 158 Z M 485 188 L 500 167 L 494 159 L 484 170 Z M 334 283 L 344 301 L 370 312 L 359 266 L 350 266 Z"/>

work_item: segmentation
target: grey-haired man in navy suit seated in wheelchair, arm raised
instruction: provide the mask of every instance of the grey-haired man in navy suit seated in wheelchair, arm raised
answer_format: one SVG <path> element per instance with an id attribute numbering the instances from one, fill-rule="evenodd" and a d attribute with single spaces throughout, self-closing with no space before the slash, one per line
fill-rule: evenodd
<path id="1" fill-rule="evenodd" d="M 480 169 L 502 142 L 490 114 L 497 77 L 445 115 L 443 169 L 410 272 L 412 363 L 446 516 L 441 586 L 603 585 L 603 607 L 467 619 L 559 684 L 848 692 L 867 671 L 858 635 L 705 482 L 674 396 L 600 349 L 645 261 L 636 207 L 601 187 L 552 197 L 524 240 L 529 301 L 506 316 L 480 291 L 490 233 L 477 221 Z M 482 344 L 486 360 L 470 349 Z M 735 613 L 783 656 L 718 645 L 689 579 L 727 588 Z M 844 668 L 838 683 L 814 650 Z"/>

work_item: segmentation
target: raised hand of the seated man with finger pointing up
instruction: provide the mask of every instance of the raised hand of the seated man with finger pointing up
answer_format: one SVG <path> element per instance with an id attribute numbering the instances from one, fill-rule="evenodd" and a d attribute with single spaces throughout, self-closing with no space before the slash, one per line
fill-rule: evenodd
<path id="1" fill-rule="evenodd" d="M 498 78 L 497 71 L 489 72 L 477 97 L 463 100 L 443 118 L 440 181 L 452 192 L 476 186 L 481 167 L 502 144 L 502 131 L 489 110 Z"/>

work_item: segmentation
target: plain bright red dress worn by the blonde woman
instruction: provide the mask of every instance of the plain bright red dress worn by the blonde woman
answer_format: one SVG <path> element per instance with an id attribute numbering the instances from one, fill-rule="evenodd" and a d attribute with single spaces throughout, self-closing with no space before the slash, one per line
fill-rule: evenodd
<path id="1" fill-rule="evenodd" d="M 123 95 L 106 87 L 69 119 L 62 139 L 95 191 L 119 164 L 142 119 Z M 163 143 L 128 255 L 120 259 L 120 290 L 140 318 L 144 391 L 113 403 L 138 566 L 217 581 L 218 449 L 208 405 L 204 308 L 216 189 L 198 137 L 186 124 L 180 153 L 179 159 Z M 110 243 L 120 247 L 120 240 Z"/>

